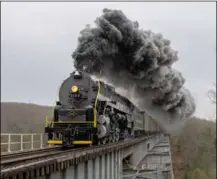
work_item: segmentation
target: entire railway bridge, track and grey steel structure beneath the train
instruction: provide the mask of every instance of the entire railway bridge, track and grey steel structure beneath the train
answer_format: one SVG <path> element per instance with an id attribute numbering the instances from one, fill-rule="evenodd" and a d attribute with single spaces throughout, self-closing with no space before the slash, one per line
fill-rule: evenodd
<path id="1" fill-rule="evenodd" d="M 1 178 L 173 178 L 169 141 L 168 138 L 165 140 L 165 137 L 160 138 L 159 135 L 64 152 L 57 152 L 58 150 L 52 148 L 48 148 L 47 151 L 43 149 L 42 152 L 40 150 L 37 150 L 38 153 L 34 153 L 34 150 L 24 150 L 23 156 L 22 152 L 2 155 L 6 158 L 1 163 Z M 13 155 L 14 158 L 7 158 Z M 123 163 L 126 158 L 131 158 L 127 168 Z"/>

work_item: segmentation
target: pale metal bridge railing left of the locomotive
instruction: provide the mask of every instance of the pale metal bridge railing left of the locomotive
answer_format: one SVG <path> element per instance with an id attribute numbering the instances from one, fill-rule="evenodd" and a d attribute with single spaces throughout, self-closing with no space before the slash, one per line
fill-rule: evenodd
<path id="1" fill-rule="evenodd" d="M 43 133 L 2 133 L 1 153 L 39 149 L 48 146 Z"/>

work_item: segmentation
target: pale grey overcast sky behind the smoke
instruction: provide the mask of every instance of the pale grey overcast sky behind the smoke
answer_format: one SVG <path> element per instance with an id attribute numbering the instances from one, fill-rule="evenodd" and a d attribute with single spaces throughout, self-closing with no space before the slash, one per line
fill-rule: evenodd
<path id="1" fill-rule="evenodd" d="M 195 97 L 195 115 L 211 117 L 207 90 L 216 81 L 215 2 L 3 2 L 1 100 L 52 105 L 73 69 L 80 30 L 103 8 L 122 10 L 140 28 L 162 33 L 179 51 L 174 68 Z"/>

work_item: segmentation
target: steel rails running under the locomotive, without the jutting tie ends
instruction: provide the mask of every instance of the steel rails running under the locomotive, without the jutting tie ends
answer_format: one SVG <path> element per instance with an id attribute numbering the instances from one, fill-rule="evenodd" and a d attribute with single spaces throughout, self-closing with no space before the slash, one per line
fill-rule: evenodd
<path id="1" fill-rule="evenodd" d="M 118 143 L 128 143 L 135 139 L 128 139 L 125 141 L 119 141 L 109 144 L 101 144 L 90 147 L 72 148 L 66 150 L 60 150 L 61 147 L 49 147 L 38 150 L 31 150 L 26 152 L 12 153 L 1 156 L 1 171 L 6 172 L 11 169 L 21 168 L 25 165 L 32 165 L 34 163 L 41 163 L 51 160 L 61 160 L 62 158 L 71 157 L 72 155 L 79 155 L 82 152 L 88 153 L 100 148 L 109 148 L 116 146 Z"/>

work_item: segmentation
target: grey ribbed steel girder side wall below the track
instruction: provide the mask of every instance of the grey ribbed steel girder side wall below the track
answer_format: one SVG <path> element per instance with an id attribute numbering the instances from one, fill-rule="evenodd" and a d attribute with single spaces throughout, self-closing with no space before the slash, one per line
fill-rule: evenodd
<path id="1" fill-rule="evenodd" d="M 40 179 L 120 179 L 121 152 L 113 151 L 77 165 L 51 173 Z"/>

